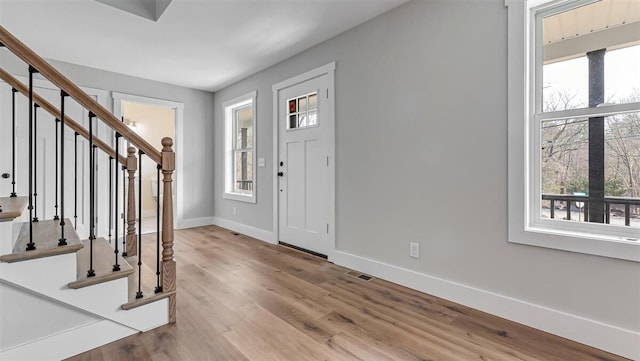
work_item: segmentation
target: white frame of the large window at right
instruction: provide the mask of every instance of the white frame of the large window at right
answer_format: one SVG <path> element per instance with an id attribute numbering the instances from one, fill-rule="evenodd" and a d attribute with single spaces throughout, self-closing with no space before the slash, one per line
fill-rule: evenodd
<path id="1" fill-rule="evenodd" d="M 637 228 L 560 222 L 540 217 L 540 127 L 543 120 L 607 116 L 637 111 L 639 104 L 541 113 L 541 53 L 532 29 L 535 14 L 565 11 L 595 0 L 505 0 L 508 7 L 508 208 L 509 242 L 640 262 Z M 552 11 L 552 10 L 549 10 Z M 539 104 L 539 102 L 538 102 Z M 634 240 L 635 239 L 635 240 Z"/>

